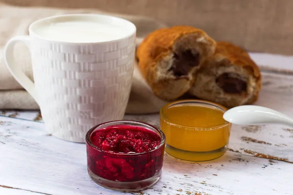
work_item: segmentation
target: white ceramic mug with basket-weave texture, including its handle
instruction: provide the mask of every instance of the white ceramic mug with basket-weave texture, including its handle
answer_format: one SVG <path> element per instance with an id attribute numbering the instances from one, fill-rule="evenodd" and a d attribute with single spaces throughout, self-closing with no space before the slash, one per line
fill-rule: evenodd
<path id="1" fill-rule="evenodd" d="M 38 34 L 45 23 L 72 18 L 115 25 L 126 35 L 108 41 L 70 42 Z M 135 25 L 124 19 L 95 14 L 55 16 L 32 23 L 29 36 L 10 39 L 4 57 L 11 74 L 39 104 L 46 130 L 68 141 L 85 142 L 91 127 L 121 120 L 125 114 L 135 37 Z M 30 49 L 34 82 L 15 63 L 13 50 L 18 41 Z"/>

